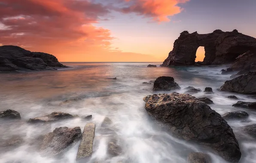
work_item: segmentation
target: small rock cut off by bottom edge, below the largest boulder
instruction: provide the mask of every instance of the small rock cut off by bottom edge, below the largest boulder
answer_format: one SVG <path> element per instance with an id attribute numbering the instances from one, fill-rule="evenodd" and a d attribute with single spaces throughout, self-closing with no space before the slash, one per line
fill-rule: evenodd
<path id="1" fill-rule="evenodd" d="M 211 163 L 210 156 L 201 152 L 191 152 L 188 163 Z"/>

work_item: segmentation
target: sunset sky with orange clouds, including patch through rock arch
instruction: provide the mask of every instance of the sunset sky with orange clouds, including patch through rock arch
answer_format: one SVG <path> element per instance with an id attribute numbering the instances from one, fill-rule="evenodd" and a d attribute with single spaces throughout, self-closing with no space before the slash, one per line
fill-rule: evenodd
<path id="1" fill-rule="evenodd" d="M 162 62 L 184 30 L 256 37 L 256 0 L 0 0 L 0 45 L 61 62 Z M 203 60 L 204 48 L 197 51 Z"/>

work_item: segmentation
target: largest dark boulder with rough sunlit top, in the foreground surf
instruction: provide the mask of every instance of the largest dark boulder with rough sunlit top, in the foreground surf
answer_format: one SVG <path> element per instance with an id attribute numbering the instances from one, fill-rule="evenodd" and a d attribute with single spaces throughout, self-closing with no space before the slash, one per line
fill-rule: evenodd
<path id="1" fill-rule="evenodd" d="M 175 136 L 198 142 L 237 163 L 241 152 L 232 128 L 208 106 L 188 94 L 154 94 L 143 98 L 146 112 Z"/>

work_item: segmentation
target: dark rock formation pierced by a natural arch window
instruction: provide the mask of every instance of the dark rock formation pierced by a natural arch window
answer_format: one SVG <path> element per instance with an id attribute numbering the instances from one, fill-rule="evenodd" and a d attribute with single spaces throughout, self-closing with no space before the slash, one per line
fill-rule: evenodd
<path id="1" fill-rule="evenodd" d="M 183 31 L 174 42 L 173 50 L 161 65 L 187 66 L 194 65 L 196 51 L 204 46 L 205 57 L 201 65 L 226 64 L 235 61 L 235 58 L 248 50 L 256 49 L 256 39 L 237 30 L 223 32 L 214 30 L 213 33 L 198 34 Z"/>

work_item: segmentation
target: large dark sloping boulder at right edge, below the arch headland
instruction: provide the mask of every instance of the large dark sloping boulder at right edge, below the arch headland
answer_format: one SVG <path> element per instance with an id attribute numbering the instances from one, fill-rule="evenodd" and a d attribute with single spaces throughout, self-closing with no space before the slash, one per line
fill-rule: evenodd
<path id="1" fill-rule="evenodd" d="M 220 91 L 238 92 L 242 94 L 256 94 L 256 72 L 238 76 L 226 81 Z"/>

